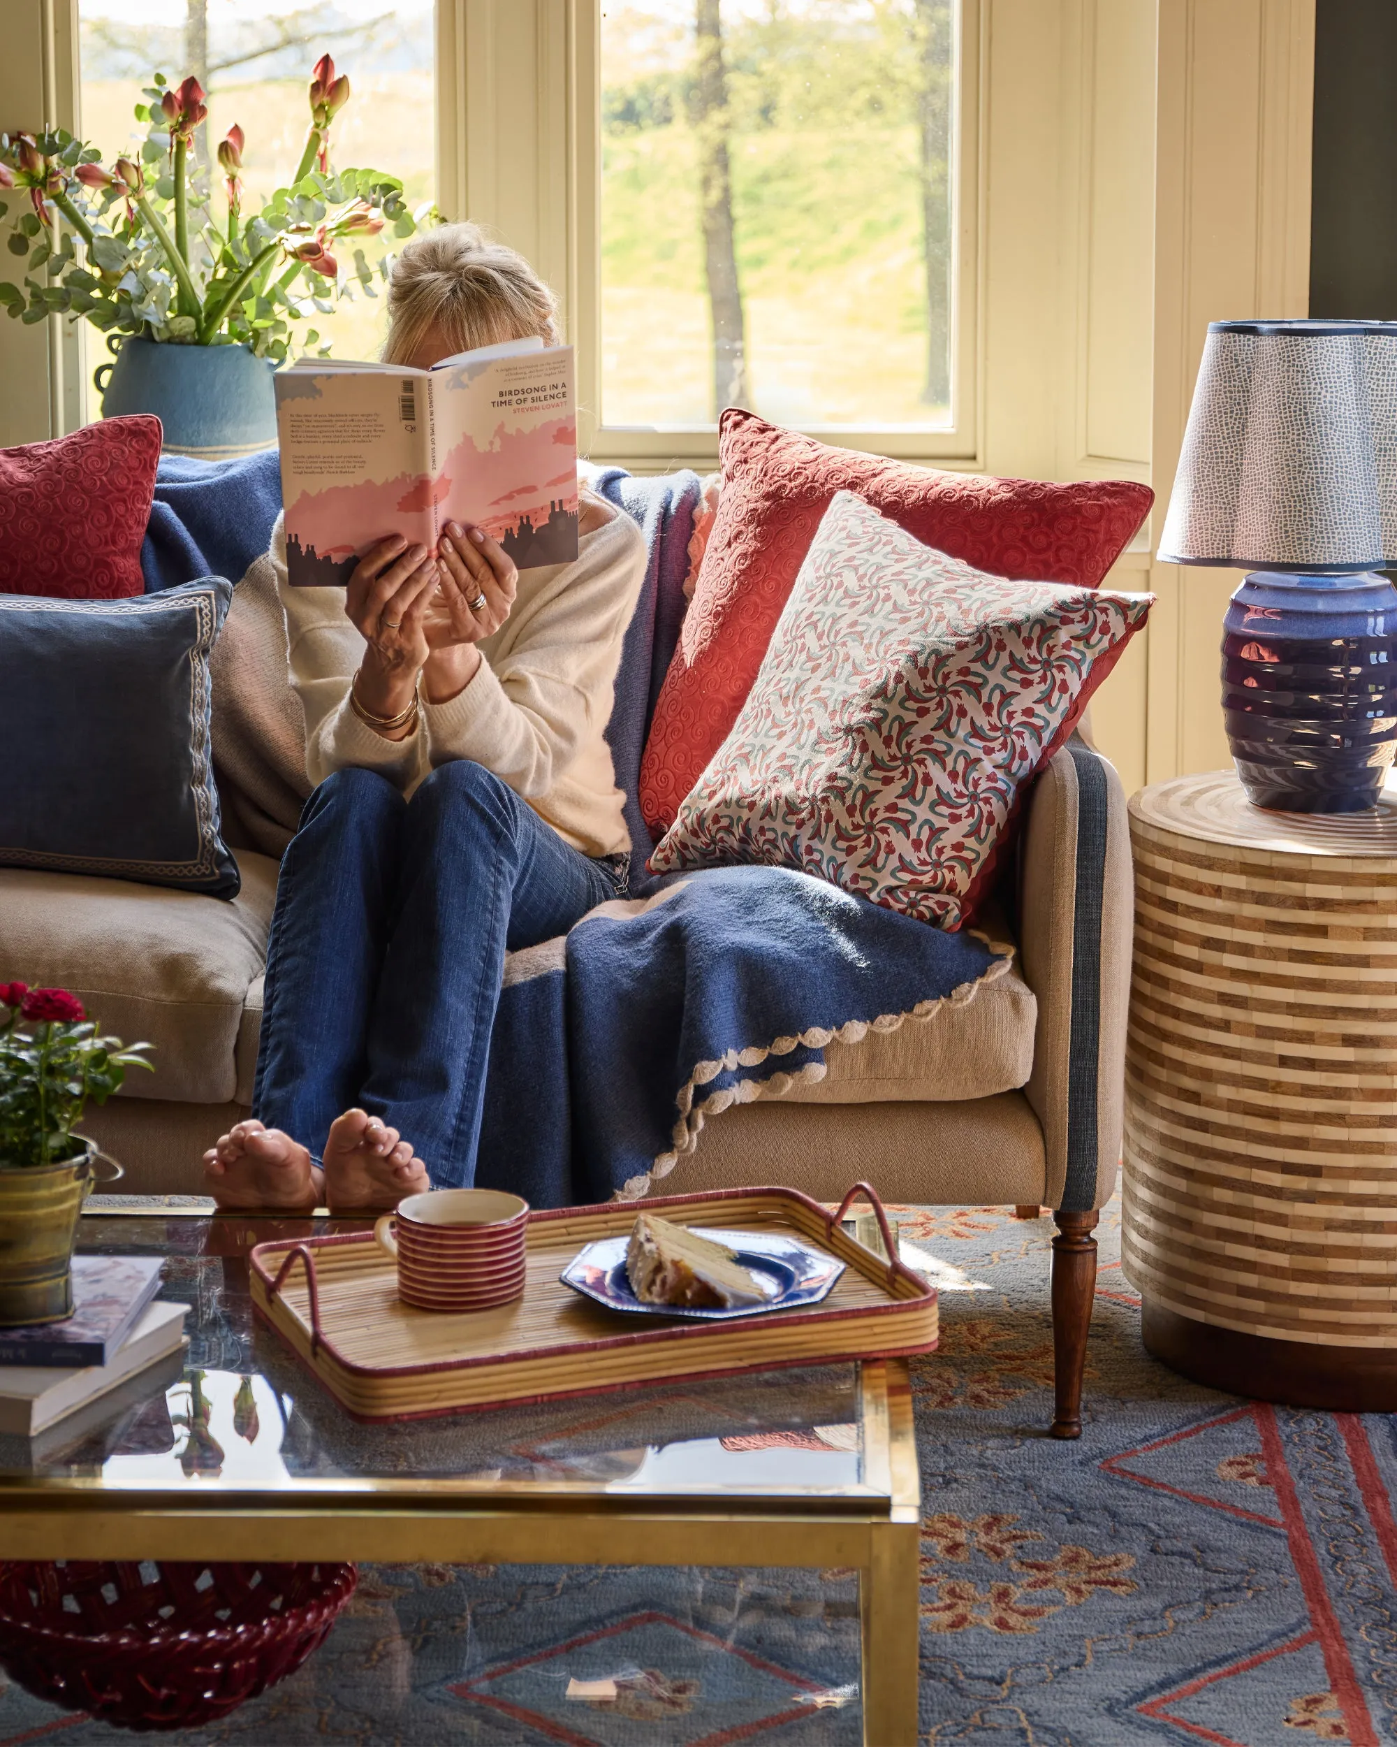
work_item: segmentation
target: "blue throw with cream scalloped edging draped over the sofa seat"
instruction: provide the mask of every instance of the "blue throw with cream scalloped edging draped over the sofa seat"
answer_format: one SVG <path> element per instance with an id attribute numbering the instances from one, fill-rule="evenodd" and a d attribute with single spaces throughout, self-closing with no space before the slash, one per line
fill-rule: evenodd
<path id="1" fill-rule="evenodd" d="M 508 963 L 475 1181 L 534 1207 L 644 1195 L 705 1116 L 821 1078 L 836 1034 L 919 1024 L 1008 966 L 971 933 L 786 868 L 606 905 Z"/>

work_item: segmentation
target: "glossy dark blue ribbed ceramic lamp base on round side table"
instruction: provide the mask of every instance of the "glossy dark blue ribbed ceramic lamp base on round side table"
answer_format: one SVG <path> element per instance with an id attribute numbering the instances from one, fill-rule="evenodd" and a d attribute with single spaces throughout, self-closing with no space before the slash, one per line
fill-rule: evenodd
<path id="1" fill-rule="evenodd" d="M 1222 713 L 1254 805 L 1374 807 L 1397 751 L 1397 589 L 1376 571 L 1252 571 L 1222 620 Z"/>

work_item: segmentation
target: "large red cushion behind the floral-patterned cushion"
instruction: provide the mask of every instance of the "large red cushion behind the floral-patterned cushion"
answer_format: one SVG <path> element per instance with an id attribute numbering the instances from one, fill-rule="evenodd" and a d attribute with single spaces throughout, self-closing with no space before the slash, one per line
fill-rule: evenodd
<path id="1" fill-rule="evenodd" d="M 737 407 L 719 430 L 718 521 L 641 760 L 641 811 L 657 837 L 737 720 L 836 491 L 995 577 L 1079 587 L 1097 587 L 1154 501 L 1126 480 L 1056 486 L 884 461 Z"/>

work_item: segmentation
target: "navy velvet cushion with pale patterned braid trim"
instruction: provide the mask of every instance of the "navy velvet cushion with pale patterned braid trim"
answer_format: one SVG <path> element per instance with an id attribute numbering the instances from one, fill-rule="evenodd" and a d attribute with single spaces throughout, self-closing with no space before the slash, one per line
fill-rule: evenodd
<path id="1" fill-rule="evenodd" d="M 222 577 L 126 601 L 0 596 L 0 865 L 237 894 L 210 667 Z"/>

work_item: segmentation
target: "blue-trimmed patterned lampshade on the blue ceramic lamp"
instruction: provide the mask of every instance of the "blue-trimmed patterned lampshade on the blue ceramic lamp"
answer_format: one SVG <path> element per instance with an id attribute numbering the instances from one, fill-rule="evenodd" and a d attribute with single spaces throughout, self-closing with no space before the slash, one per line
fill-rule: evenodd
<path id="1" fill-rule="evenodd" d="M 1397 323 L 1208 323 L 1160 559 L 1397 563 Z"/>

